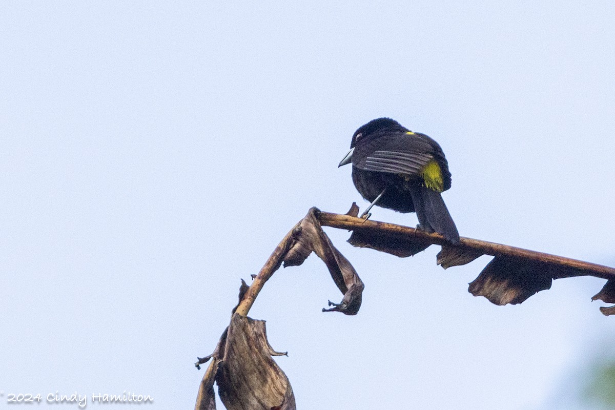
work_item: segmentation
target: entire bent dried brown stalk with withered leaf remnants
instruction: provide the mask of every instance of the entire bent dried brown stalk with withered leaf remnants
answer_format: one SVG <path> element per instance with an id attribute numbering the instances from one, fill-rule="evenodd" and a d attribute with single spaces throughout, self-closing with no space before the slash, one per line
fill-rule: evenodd
<path id="1" fill-rule="evenodd" d="M 353 203 L 346 215 L 321 212 L 311 208 L 299 223 L 277 245 L 250 286 L 242 280 L 239 304 L 233 309 L 231 323 L 226 328 L 215 351 L 199 358 L 197 368 L 209 360 L 197 395 L 196 410 L 214 410 L 213 384 L 228 409 L 295 410 L 295 397 L 282 369 L 272 360 L 275 352 L 267 341 L 264 321 L 246 317 L 258 293 L 271 275 L 284 266 L 300 265 L 314 252 L 325 262 L 331 278 L 344 297 L 339 304 L 329 302 L 331 309 L 355 315 L 362 301 L 363 282 L 350 262 L 333 246 L 322 226 L 352 231 L 349 242 L 354 246 L 405 257 L 442 245 L 437 263 L 443 268 L 467 264 L 488 254 L 494 258 L 480 272 L 469 291 L 485 296 L 494 304 L 516 304 L 538 291 L 549 289 L 552 280 L 574 276 L 595 276 L 608 280 L 593 300 L 615 303 L 615 269 L 577 261 L 548 253 L 483 240 L 461 238 L 451 245 L 442 235 L 418 231 L 378 221 L 357 218 L 359 208 Z M 601 307 L 605 315 L 615 315 L 615 306 Z"/>

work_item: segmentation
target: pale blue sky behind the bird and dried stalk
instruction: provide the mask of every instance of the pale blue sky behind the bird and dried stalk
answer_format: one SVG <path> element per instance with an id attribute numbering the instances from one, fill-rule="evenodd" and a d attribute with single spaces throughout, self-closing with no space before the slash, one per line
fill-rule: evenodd
<path id="1" fill-rule="evenodd" d="M 192 408 L 239 278 L 309 207 L 365 207 L 337 164 L 379 116 L 441 144 L 462 236 L 613 266 L 614 20 L 610 1 L 2 2 L 0 407 Z M 327 232 L 359 315 L 320 312 L 341 296 L 315 256 L 250 313 L 299 408 L 568 409 L 615 336 L 603 280 L 498 307 L 467 293 L 488 258 L 445 271 L 435 247 Z"/>

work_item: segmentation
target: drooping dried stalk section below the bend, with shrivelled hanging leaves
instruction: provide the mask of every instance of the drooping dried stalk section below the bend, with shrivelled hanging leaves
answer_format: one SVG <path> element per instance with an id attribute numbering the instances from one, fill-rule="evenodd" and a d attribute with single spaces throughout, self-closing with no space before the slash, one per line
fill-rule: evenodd
<path id="1" fill-rule="evenodd" d="M 282 266 L 300 265 L 314 252 L 328 267 L 333 282 L 344 297 L 341 303 L 329 302 L 327 312 L 355 315 L 362 301 L 363 282 L 350 262 L 333 246 L 322 231 L 317 210 L 311 208 L 276 246 L 252 285 L 244 280 L 239 288 L 239 303 L 211 355 L 198 358 L 197 368 L 209 360 L 196 400 L 196 410 L 216 408 L 213 384 L 227 409 L 295 410 L 295 396 L 282 369 L 272 360 L 277 353 L 267 341 L 264 321 L 247 317 L 258 293 L 271 275 Z"/>

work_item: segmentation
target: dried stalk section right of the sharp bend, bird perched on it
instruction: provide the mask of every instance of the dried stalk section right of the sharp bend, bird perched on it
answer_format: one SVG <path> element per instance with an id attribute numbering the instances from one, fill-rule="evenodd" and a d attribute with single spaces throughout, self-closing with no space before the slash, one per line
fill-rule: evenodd
<path id="1" fill-rule="evenodd" d="M 615 269 L 608 266 L 478 239 L 462 237 L 458 244 L 451 245 L 442 235 L 407 226 L 366 221 L 357 218 L 357 215 L 358 208 L 355 204 L 346 215 L 316 213 L 323 226 L 351 230 L 352 235 L 348 242 L 354 246 L 405 257 L 431 245 L 442 245 L 437 263 L 445 269 L 467 264 L 484 254 L 494 256 L 474 282 L 470 283 L 468 290 L 474 296 L 484 296 L 498 305 L 521 303 L 533 294 L 549 289 L 554 279 L 575 276 L 595 276 L 609 281 L 615 279 Z M 595 299 L 609 302 L 612 294 L 612 290 L 603 290 Z M 605 315 L 615 314 L 615 307 L 600 310 Z"/>

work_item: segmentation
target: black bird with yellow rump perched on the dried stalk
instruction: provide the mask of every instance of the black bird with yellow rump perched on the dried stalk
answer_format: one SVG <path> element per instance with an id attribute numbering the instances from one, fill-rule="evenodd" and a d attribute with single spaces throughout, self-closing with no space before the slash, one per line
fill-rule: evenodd
<path id="1" fill-rule="evenodd" d="M 451 187 L 451 173 L 437 142 L 395 120 L 378 118 L 355 131 L 350 147 L 339 167 L 352 162 L 352 182 L 371 202 L 362 216 L 374 205 L 402 213 L 416 211 L 420 229 L 459 242 L 440 195 Z"/>

